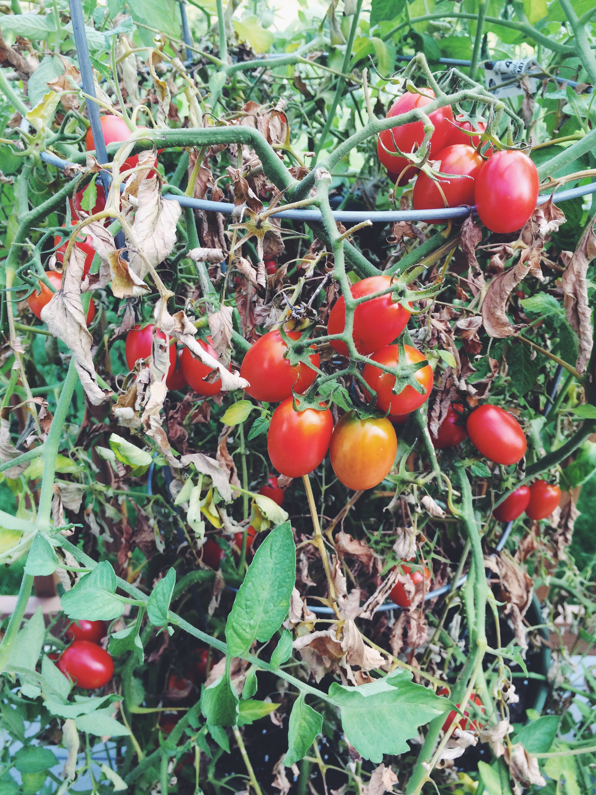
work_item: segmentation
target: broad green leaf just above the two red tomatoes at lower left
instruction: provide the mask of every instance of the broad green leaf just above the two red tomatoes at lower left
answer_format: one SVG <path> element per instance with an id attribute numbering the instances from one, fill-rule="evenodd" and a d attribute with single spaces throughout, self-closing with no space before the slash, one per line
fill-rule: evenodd
<path id="1" fill-rule="evenodd" d="M 71 591 L 66 591 L 60 604 L 70 619 L 118 619 L 124 612 L 124 603 L 114 596 L 116 585 L 114 569 L 103 560 L 92 572 L 83 575 Z"/>

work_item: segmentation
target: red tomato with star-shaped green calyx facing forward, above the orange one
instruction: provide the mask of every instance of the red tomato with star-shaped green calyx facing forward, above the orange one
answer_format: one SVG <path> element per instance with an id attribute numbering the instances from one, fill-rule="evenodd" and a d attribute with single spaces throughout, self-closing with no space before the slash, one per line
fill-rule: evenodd
<path id="1" fill-rule="evenodd" d="M 405 345 L 405 359 L 408 364 L 424 361 L 424 355 L 416 348 L 410 345 Z M 423 394 L 416 392 L 413 386 L 406 386 L 404 390 L 398 395 L 394 395 L 391 391 L 395 383 L 395 377 L 390 373 L 385 373 L 384 370 L 379 370 L 372 362 L 385 364 L 390 367 L 397 366 L 399 361 L 399 346 L 388 345 L 381 351 L 377 351 L 370 357 L 371 364 L 366 364 L 362 375 L 367 384 L 377 393 L 377 409 L 379 411 L 388 411 L 391 414 L 409 414 L 416 411 L 420 406 L 428 400 L 428 395 L 431 394 L 433 373 L 432 367 L 426 365 L 420 370 L 416 370 L 414 378 L 424 387 Z"/>

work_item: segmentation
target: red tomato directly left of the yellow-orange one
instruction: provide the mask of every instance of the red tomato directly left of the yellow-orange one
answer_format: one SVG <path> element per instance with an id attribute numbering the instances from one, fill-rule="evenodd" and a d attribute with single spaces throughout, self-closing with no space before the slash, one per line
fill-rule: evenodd
<path id="1" fill-rule="evenodd" d="M 288 478 L 308 475 L 325 457 L 333 432 L 329 409 L 294 411 L 292 398 L 277 406 L 267 435 L 267 451 L 273 466 Z"/>

